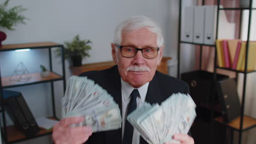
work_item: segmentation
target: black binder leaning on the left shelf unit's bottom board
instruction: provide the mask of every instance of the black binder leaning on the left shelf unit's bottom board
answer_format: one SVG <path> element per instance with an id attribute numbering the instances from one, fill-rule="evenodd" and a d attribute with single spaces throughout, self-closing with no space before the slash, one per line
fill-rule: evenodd
<path id="1" fill-rule="evenodd" d="M 4 90 L 3 98 L 15 124 L 27 137 L 36 135 L 40 129 L 22 94 L 20 92 Z"/>

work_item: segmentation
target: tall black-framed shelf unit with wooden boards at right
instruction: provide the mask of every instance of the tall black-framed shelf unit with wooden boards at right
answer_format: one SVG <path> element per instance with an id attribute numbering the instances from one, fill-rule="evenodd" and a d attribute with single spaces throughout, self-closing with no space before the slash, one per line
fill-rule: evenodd
<path id="1" fill-rule="evenodd" d="M 204 5 L 205 1 L 202 0 L 202 5 Z M 247 70 L 247 62 L 248 62 L 248 46 L 249 46 L 249 38 L 250 38 L 250 28 L 251 28 L 251 19 L 252 19 L 252 10 L 256 10 L 256 8 L 252 8 L 252 0 L 249 0 L 249 8 L 220 8 L 220 0 L 217 1 L 217 23 L 216 23 L 216 39 L 218 39 L 218 21 L 219 21 L 219 11 L 220 10 L 239 10 L 240 11 L 240 29 L 239 29 L 239 37 L 241 34 L 241 20 L 242 20 L 242 11 L 243 10 L 249 10 L 249 20 L 248 20 L 248 33 L 247 33 L 247 44 L 246 44 L 246 61 L 245 61 L 245 70 L 244 71 L 240 71 L 240 70 L 233 70 L 230 68 L 222 68 L 222 67 L 218 67 L 217 65 L 217 54 L 215 54 L 214 56 L 214 76 L 213 76 L 213 81 L 216 82 L 216 77 L 217 77 L 217 69 L 225 69 L 225 70 L 229 70 L 229 71 L 235 71 L 236 75 L 238 73 L 242 73 L 244 74 L 244 79 L 243 79 L 243 90 L 242 90 L 242 100 L 241 100 L 241 115 L 240 117 L 234 119 L 232 122 L 230 123 L 226 123 L 224 122 L 223 117 L 217 117 L 214 118 L 214 104 L 213 102 L 211 102 L 211 142 L 214 143 L 214 138 L 213 138 L 213 131 L 214 131 L 214 126 L 213 123 L 214 122 L 219 122 L 223 125 L 225 125 L 225 127 L 228 127 L 231 129 L 231 143 L 233 143 L 233 134 L 234 134 L 234 130 L 238 131 L 239 133 L 239 139 L 238 139 L 238 143 L 241 144 L 242 143 L 242 133 L 243 131 L 246 130 L 250 130 L 252 128 L 256 127 L 256 119 L 252 118 L 252 117 L 248 117 L 244 115 L 244 110 L 245 110 L 245 94 L 246 94 L 246 79 L 247 79 L 247 74 L 249 73 L 255 73 L 256 70 L 251 70 L 248 71 Z M 197 43 L 190 43 L 187 41 L 182 41 L 181 40 L 181 15 L 182 15 L 182 1 L 179 1 L 179 34 L 178 34 L 178 68 L 177 68 L 177 77 L 180 77 L 180 60 L 181 60 L 181 45 L 180 44 L 192 44 L 192 45 L 200 45 L 200 70 L 201 70 L 201 62 L 202 62 L 202 46 L 212 46 L 215 47 L 215 53 L 217 53 L 216 50 L 216 45 L 206 45 L 206 44 L 197 44 Z M 211 101 L 214 101 L 214 93 L 216 92 L 215 87 L 212 88 L 212 94 L 211 94 Z"/>

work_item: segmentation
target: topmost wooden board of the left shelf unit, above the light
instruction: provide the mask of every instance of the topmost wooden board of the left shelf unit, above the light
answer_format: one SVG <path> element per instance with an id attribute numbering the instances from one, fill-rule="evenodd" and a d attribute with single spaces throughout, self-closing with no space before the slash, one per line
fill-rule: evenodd
<path id="1" fill-rule="evenodd" d="M 59 47 L 61 44 L 56 44 L 53 42 L 44 42 L 44 43 L 28 43 L 28 44 L 10 44 L 3 45 L 0 47 L 0 51 L 10 51 L 10 50 L 19 50 L 19 49 L 38 49 L 45 47 Z"/>

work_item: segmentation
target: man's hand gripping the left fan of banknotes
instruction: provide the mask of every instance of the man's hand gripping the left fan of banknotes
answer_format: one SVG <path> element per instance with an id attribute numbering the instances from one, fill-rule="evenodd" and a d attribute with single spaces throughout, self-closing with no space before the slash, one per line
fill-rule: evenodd
<path id="1" fill-rule="evenodd" d="M 83 117 L 68 117 L 61 119 L 53 127 L 53 140 L 55 144 L 81 144 L 88 140 L 92 134 L 91 127 L 69 127 L 71 124 L 83 122 Z"/>

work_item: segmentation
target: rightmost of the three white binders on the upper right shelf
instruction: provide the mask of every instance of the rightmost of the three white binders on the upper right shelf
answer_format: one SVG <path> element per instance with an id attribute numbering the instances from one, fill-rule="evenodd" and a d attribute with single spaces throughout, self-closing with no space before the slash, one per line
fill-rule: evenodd
<path id="1" fill-rule="evenodd" d="M 205 5 L 205 34 L 203 44 L 214 45 L 216 37 L 217 5 Z"/>

